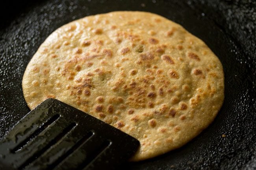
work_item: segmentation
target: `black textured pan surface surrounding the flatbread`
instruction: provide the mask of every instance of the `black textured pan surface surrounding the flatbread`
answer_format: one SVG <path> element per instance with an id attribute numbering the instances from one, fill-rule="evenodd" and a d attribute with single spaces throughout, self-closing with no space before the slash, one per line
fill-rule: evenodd
<path id="1" fill-rule="evenodd" d="M 225 100 L 215 121 L 190 143 L 154 159 L 127 163 L 122 169 L 256 169 L 255 1 L 8 1 L 0 9 L 0 137 L 29 112 L 22 75 L 52 31 L 88 15 L 149 11 L 181 24 L 219 57 L 225 74 Z"/>

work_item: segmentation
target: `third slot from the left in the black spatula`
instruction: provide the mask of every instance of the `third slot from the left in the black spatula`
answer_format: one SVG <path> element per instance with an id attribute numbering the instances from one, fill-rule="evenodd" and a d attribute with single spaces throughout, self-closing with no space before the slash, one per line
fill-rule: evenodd
<path id="1" fill-rule="evenodd" d="M 48 170 L 52 170 L 57 165 L 59 165 L 66 157 L 68 157 L 70 154 L 72 154 L 75 150 L 77 150 L 80 146 L 82 146 L 84 143 L 86 143 L 91 137 L 93 137 L 95 133 L 93 131 L 88 132 L 82 139 L 80 139 L 72 148 L 70 148 L 65 154 L 63 154 L 61 157 L 59 157 L 58 160 L 56 160 L 52 165 L 48 166 Z"/>

